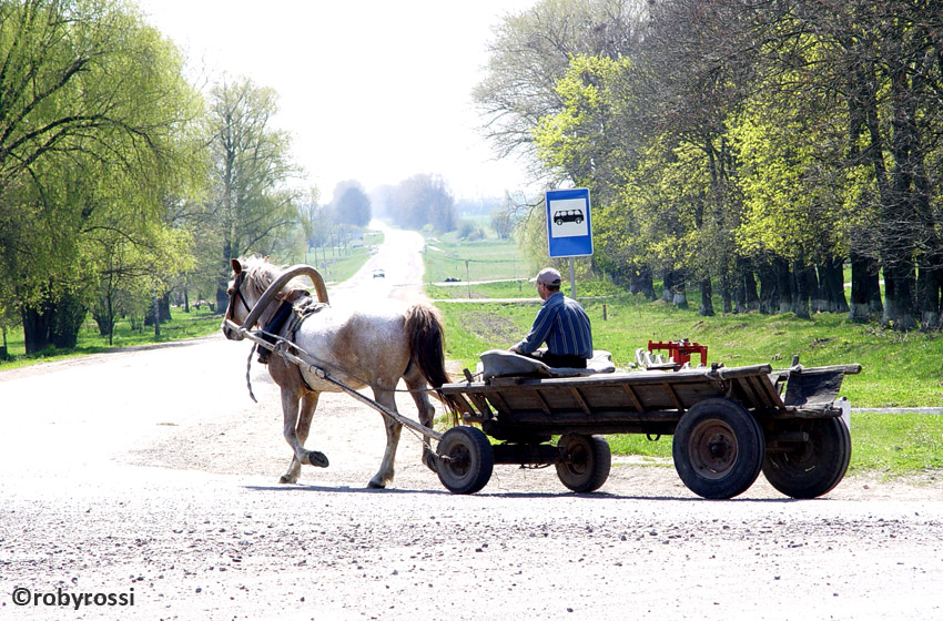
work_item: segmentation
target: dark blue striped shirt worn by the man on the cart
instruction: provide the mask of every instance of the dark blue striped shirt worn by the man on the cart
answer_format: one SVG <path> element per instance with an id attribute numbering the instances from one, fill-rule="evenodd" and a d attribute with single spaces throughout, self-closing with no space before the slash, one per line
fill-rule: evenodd
<path id="1" fill-rule="evenodd" d="M 554 292 L 544 301 L 530 333 L 515 348 L 531 354 L 545 342 L 550 354 L 592 357 L 589 317 L 577 301 L 562 292 Z"/>

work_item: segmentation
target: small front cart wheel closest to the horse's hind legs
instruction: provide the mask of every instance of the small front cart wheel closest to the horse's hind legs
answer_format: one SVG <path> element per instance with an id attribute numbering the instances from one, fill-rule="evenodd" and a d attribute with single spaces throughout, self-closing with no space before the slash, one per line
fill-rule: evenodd
<path id="1" fill-rule="evenodd" d="M 438 479 L 453 493 L 475 493 L 491 478 L 495 454 L 480 429 L 453 427 L 438 444 Z"/>

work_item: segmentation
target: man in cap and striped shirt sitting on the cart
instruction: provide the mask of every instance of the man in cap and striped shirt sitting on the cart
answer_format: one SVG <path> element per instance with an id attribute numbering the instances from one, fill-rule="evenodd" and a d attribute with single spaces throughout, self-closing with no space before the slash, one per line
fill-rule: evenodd
<path id="1" fill-rule="evenodd" d="M 510 348 L 556 368 L 586 368 L 592 357 L 592 330 L 580 304 L 560 292 L 560 273 L 545 267 L 537 274 L 537 294 L 544 305 L 530 333 Z M 547 343 L 547 349 L 537 349 Z"/>

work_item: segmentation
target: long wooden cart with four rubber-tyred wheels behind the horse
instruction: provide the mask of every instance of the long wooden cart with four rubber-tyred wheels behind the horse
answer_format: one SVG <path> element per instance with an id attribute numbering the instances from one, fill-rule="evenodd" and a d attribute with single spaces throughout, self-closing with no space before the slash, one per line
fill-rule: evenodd
<path id="1" fill-rule="evenodd" d="M 701 497 L 738 496 L 762 470 L 782 493 L 814 498 L 848 469 L 848 401 L 835 398 L 842 378 L 860 371 L 860 365 L 778 371 L 714 365 L 474 381 L 466 370 L 467 381 L 442 387 L 460 401 L 467 425 L 443 435 L 438 476 L 450 491 L 474 493 L 495 464 L 554 465 L 567 488 L 590 492 L 609 476 L 604 435 L 673 435 L 675 468 Z"/>

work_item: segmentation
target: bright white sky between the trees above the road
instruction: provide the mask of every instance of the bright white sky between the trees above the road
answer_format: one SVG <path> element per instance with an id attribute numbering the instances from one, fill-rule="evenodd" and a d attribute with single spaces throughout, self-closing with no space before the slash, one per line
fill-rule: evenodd
<path id="1" fill-rule="evenodd" d="M 215 81 L 247 75 L 278 92 L 276 122 L 295 161 L 329 201 L 440 174 L 456 197 L 500 196 L 527 183 L 495 161 L 472 89 L 493 27 L 537 0 L 139 0 L 192 69 Z"/>

